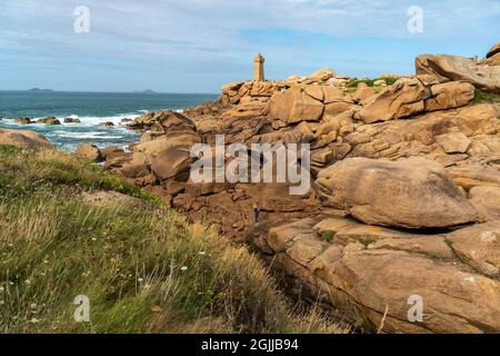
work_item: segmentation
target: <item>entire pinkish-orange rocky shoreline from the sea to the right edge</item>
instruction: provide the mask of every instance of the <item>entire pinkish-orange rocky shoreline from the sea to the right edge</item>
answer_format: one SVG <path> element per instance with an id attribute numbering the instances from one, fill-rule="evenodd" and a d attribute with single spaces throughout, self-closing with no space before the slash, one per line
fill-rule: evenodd
<path id="1" fill-rule="evenodd" d="M 192 220 L 247 243 L 294 295 L 366 330 L 500 332 L 500 52 L 482 61 L 423 55 L 416 76 L 356 82 L 320 70 L 281 82 L 234 82 L 183 113 L 128 127 L 126 151 L 77 154 L 162 197 Z M 190 148 L 309 144 L 313 185 L 194 184 Z M 0 130 L 0 144 L 47 146 Z M 259 224 L 252 206 L 261 208 Z M 423 319 L 410 322 L 420 296 Z"/>

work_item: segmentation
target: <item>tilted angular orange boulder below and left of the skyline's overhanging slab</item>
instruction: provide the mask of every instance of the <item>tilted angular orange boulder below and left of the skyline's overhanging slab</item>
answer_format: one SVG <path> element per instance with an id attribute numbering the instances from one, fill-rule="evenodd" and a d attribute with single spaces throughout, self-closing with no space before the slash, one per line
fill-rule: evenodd
<path id="1" fill-rule="evenodd" d="M 424 99 L 429 97 L 429 91 L 417 78 L 400 79 L 362 102 L 356 118 L 364 123 L 406 118 L 422 112 Z"/>

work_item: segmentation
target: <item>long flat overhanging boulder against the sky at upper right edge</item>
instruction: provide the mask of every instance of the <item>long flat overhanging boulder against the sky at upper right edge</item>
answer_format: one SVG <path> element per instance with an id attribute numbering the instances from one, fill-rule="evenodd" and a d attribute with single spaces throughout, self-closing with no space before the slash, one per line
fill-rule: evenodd
<path id="1" fill-rule="evenodd" d="M 459 56 L 421 55 L 416 59 L 416 68 L 417 75 L 463 80 L 481 90 L 500 92 L 500 66 L 483 66 Z"/>

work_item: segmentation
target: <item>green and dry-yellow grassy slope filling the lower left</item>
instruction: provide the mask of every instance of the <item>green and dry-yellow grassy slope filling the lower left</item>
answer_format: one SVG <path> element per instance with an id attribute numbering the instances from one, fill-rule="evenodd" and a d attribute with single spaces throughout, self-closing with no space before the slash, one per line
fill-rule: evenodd
<path id="1" fill-rule="evenodd" d="M 0 333 L 346 332 L 291 305 L 244 247 L 99 167 L 3 146 L 0 169 Z M 134 198 L 82 198 L 102 190 Z"/>

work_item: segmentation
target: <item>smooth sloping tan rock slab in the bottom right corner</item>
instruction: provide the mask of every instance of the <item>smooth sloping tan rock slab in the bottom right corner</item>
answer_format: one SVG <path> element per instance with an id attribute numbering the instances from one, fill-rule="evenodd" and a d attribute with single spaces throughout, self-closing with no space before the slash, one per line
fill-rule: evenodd
<path id="1" fill-rule="evenodd" d="M 500 327 L 500 283 L 404 251 L 362 250 L 344 255 L 338 278 L 376 328 L 388 307 L 386 333 L 493 333 Z M 408 300 L 424 303 L 423 323 L 408 322 Z"/>

